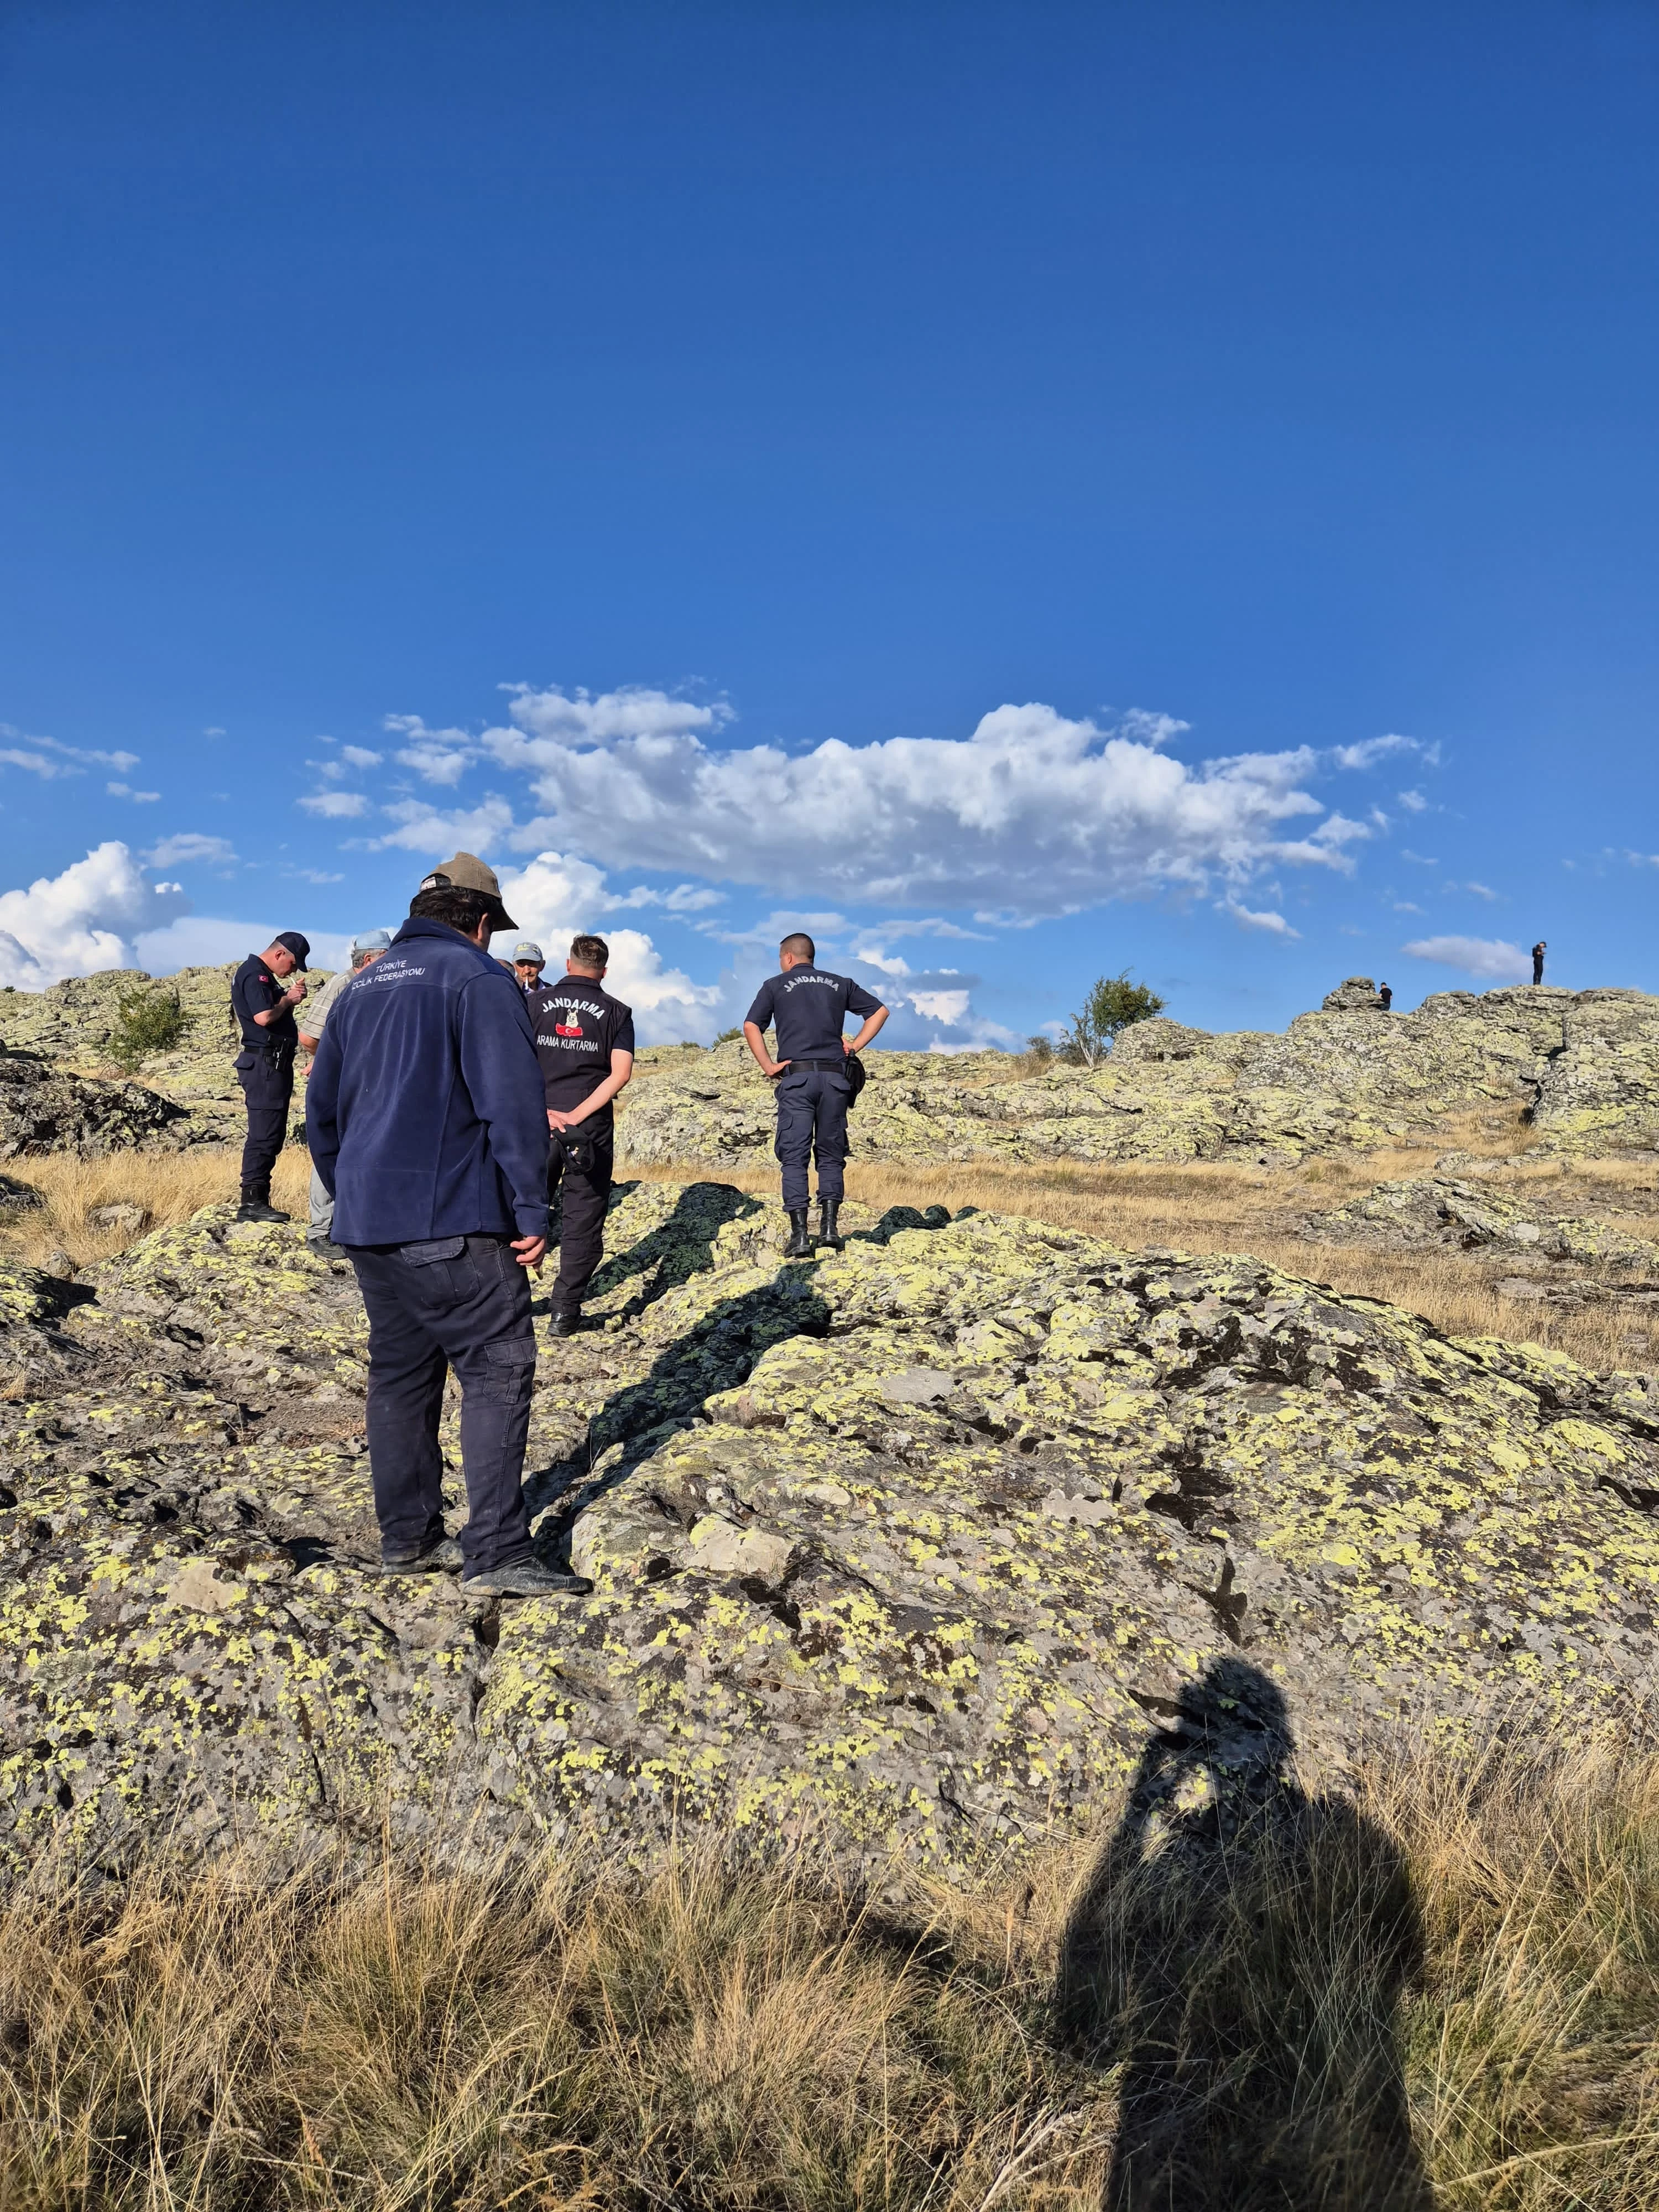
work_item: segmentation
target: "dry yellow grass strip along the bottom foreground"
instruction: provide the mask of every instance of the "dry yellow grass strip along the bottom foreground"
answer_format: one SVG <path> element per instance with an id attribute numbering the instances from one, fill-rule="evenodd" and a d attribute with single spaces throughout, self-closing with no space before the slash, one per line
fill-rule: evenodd
<path id="1" fill-rule="evenodd" d="M 1648 2212 L 1655 1931 L 1655 1759 L 1502 1745 L 971 1887 L 150 1865 L 0 1913 L 0 2203 Z"/>

